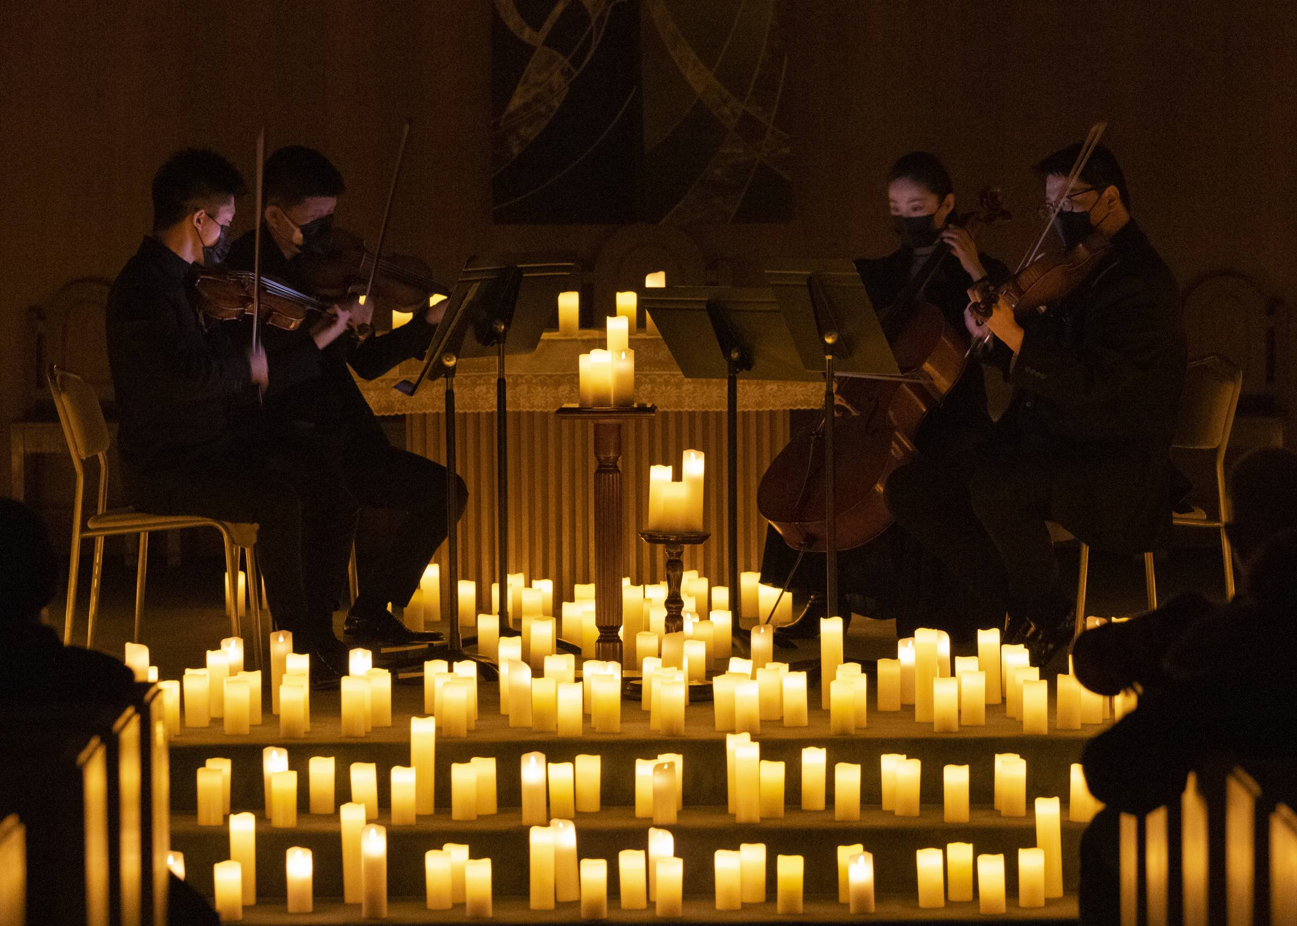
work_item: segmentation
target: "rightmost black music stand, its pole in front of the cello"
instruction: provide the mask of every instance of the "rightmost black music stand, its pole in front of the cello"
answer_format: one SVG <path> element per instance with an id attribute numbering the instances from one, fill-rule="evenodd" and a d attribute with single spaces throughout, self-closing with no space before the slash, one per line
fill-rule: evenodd
<path id="1" fill-rule="evenodd" d="M 848 261 L 796 261 L 795 270 L 767 270 L 774 298 L 807 371 L 824 375 L 825 593 L 838 607 L 838 529 L 833 517 L 834 376 L 905 379 L 855 266 Z"/>

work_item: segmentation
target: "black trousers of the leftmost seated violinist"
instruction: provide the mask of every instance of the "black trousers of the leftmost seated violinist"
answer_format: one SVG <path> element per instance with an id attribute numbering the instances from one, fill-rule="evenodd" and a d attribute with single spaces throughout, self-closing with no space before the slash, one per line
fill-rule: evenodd
<path id="1" fill-rule="evenodd" d="M 141 511 L 256 523 L 275 626 L 306 646 L 332 634 L 357 519 L 337 473 L 231 441 L 130 486 Z"/>

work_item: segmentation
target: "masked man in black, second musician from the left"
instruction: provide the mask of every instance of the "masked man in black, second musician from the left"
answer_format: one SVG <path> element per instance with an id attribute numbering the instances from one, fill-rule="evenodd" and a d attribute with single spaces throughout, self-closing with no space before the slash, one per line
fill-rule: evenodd
<path id="1" fill-rule="evenodd" d="M 301 255 L 328 254 L 333 210 L 344 192 L 342 175 L 318 150 L 292 145 L 266 160 L 261 270 L 291 287 L 307 289 Z M 254 233 L 240 237 L 227 266 L 250 270 Z M 411 643 L 440 638 L 407 629 L 388 611 L 409 603 L 423 569 L 446 538 L 446 469 L 393 447 L 351 377 L 388 372 L 422 355 L 432 342 L 444 306 L 429 306 L 385 335 L 359 338 L 345 322 L 368 323 L 372 306 L 339 307 L 333 322 L 309 331 L 266 331 L 266 350 L 276 374 L 265 397 L 265 421 L 274 444 L 311 468 L 341 481 L 359 505 L 396 515 L 396 525 L 371 558 L 359 558 L 359 598 L 344 625 L 355 642 Z M 278 370 L 284 370 L 276 380 Z M 457 517 L 468 492 L 458 481 Z M 363 543 L 362 543 L 363 546 Z"/>

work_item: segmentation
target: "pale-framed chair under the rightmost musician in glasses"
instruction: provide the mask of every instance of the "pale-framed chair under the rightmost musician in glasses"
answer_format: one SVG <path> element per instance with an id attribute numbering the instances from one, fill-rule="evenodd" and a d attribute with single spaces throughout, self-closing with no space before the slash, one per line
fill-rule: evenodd
<path id="1" fill-rule="evenodd" d="M 1243 392 L 1243 370 L 1219 354 L 1208 354 L 1189 361 L 1184 376 L 1184 392 L 1171 446 L 1180 450 L 1211 450 L 1215 453 L 1217 516 L 1195 507 L 1189 514 L 1172 514 L 1175 527 L 1211 528 L 1220 533 L 1220 555 L 1224 560 L 1226 595 L 1233 598 L 1233 558 L 1230 538 L 1224 533 L 1227 499 L 1224 493 L 1224 457 L 1233 429 L 1233 415 Z M 1062 527 L 1049 524 L 1054 542 L 1073 540 Z M 1089 546 L 1080 545 L 1080 575 L 1077 580 L 1077 634 L 1086 629 L 1086 585 L 1089 577 Z M 1148 610 L 1157 607 L 1157 575 L 1153 552 L 1144 554 L 1144 591 Z"/>

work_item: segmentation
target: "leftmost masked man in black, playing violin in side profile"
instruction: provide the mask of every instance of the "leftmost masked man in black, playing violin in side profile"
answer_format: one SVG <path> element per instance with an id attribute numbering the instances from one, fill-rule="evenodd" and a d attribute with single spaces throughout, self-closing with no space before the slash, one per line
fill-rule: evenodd
<path id="1" fill-rule="evenodd" d="M 339 555 L 331 542 L 350 542 L 355 507 L 236 434 L 232 401 L 266 386 L 270 366 L 196 309 L 195 267 L 222 257 L 243 189 L 239 171 L 206 149 L 171 156 L 153 178 L 153 233 L 108 297 L 122 471 L 141 511 L 258 525 L 271 613 L 324 683 L 346 672 L 346 648 L 333 635 L 323 577 Z M 345 568 L 346 546 L 341 556 Z"/>

